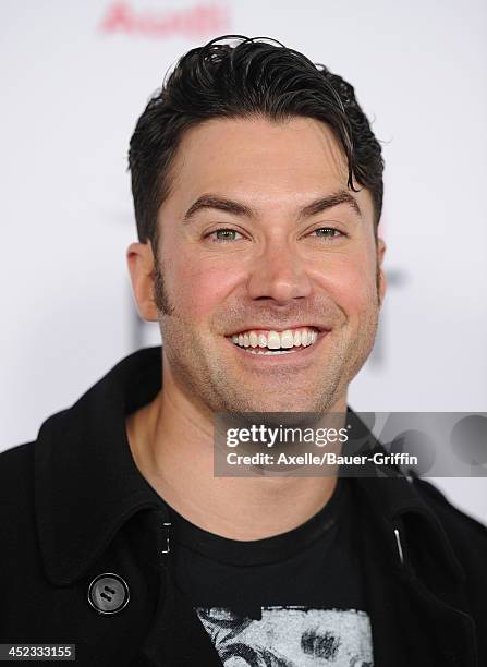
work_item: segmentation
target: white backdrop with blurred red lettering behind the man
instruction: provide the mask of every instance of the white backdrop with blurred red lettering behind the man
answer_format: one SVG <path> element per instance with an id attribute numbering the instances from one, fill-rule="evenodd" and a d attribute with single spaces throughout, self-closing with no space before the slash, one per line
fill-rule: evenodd
<path id="1" fill-rule="evenodd" d="M 342 74 L 385 142 L 390 290 L 351 405 L 487 410 L 484 0 L 3 0 L 0 15 L 0 449 L 158 340 L 125 269 L 129 140 L 168 66 L 224 33 Z M 487 480 L 437 483 L 487 523 Z"/>

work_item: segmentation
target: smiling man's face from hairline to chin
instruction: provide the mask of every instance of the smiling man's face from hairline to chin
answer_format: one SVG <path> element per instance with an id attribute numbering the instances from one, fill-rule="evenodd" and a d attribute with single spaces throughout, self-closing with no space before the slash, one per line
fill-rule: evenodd
<path id="1" fill-rule="evenodd" d="M 172 177 L 155 289 L 178 387 L 211 411 L 343 409 L 374 343 L 383 247 L 331 131 L 207 121 L 185 133 Z"/>

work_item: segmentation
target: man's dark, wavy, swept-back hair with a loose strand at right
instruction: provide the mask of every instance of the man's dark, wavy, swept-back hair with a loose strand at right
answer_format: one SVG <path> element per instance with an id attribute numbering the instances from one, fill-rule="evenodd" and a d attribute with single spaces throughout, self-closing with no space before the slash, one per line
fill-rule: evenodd
<path id="1" fill-rule="evenodd" d="M 355 181 L 372 194 L 377 230 L 383 160 L 353 87 L 277 40 L 226 35 L 183 56 L 137 121 L 129 168 L 139 241 L 157 248 L 157 213 L 184 131 L 209 119 L 253 116 L 308 117 L 329 125 L 346 156 L 348 186 L 357 192 Z"/>

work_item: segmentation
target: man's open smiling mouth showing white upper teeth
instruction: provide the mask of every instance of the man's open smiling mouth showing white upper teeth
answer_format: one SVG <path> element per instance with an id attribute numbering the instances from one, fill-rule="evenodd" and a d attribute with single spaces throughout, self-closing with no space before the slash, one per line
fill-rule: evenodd
<path id="1" fill-rule="evenodd" d="M 284 331 L 252 329 L 234 333 L 231 341 L 248 354 L 276 356 L 294 354 L 316 343 L 320 331 L 316 327 L 299 327 Z"/>

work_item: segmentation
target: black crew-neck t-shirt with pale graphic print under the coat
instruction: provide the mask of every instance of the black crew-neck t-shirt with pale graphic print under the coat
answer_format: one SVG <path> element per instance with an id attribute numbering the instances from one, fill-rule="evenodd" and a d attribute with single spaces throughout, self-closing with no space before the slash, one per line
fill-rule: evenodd
<path id="1" fill-rule="evenodd" d="M 226 667 L 369 667 L 350 481 L 327 505 L 281 535 L 240 542 L 171 510 L 175 583 L 194 606 Z"/>

